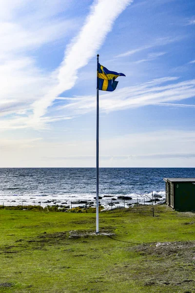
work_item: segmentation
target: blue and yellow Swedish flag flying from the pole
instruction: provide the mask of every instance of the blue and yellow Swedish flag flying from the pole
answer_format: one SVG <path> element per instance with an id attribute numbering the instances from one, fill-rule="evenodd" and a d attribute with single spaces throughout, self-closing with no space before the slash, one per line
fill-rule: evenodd
<path id="1" fill-rule="evenodd" d="M 98 63 L 98 89 L 106 91 L 114 91 L 117 87 L 118 82 L 116 78 L 118 76 L 125 76 L 123 73 L 117 73 L 110 71 L 103 65 Z"/>

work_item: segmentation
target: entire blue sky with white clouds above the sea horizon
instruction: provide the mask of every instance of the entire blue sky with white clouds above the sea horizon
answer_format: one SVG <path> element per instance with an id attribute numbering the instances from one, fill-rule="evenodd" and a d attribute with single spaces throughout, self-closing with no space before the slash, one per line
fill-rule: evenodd
<path id="1" fill-rule="evenodd" d="M 0 0 L 0 167 L 195 167 L 195 1 Z"/>

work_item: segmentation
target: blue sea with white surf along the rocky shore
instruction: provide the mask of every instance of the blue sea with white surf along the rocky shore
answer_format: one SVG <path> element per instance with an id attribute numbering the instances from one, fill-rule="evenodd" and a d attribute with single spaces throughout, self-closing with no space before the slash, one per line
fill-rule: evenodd
<path id="1" fill-rule="evenodd" d="M 105 208 L 165 198 L 163 178 L 195 177 L 195 168 L 99 168 Z M 127 196 L 132 199 L 118 197 Z M 96 205 L 96 168 L 0 168 L 0 205 Z"/>

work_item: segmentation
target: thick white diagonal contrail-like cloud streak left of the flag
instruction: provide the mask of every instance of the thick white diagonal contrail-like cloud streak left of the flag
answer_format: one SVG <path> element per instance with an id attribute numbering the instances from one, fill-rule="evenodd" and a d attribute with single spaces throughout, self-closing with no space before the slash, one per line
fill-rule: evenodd
<path id="1" fill-rule="evenodd" d="M 39 121 L 39 117 L 45 114 L 47 107 L 60 93 L 74 86 L 78 78 L 78 70 L 96 54 L 118 15 L 131 2 L 133 0 L 98 0 L 91 6 L 84 26 L 65 51 L 64 60 L 57 70 L 56 86 L 34 103 L 33 124 L 36 120 Z M 101 34 L 99 34 L 100 23 Z"/>

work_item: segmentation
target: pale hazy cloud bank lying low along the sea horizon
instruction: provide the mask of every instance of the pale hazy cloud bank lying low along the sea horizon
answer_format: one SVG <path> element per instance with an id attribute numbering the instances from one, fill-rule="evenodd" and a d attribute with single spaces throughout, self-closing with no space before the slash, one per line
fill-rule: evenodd
<path id="1" fill-rule="evenodd" d="M 195 132 L 184 129 L 100 138 L 100 167 L 193 167 Z M 95 167 L 95 140 L 0 141 L 1 167 Z"/>

